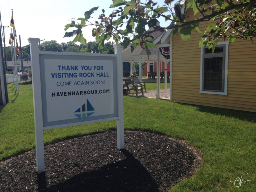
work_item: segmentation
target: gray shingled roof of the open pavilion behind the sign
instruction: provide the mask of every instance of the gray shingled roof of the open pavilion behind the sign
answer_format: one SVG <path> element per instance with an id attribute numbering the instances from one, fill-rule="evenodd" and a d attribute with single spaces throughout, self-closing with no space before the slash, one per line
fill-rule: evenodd
<path id="1" fill-rule="evenodd" d="M 152 31 L 159 28 L 159 26 L 156 27 L 151 27 L 150 29 L 148 29 L 147 31 Z M 156 37 L 158 37 L 159 35 L 161 35 L 163 33 L 164 30 L 159 30 L 159 31 L 154 31 L 151 33 L 151 35 L 154 37 L 154 39 Z M 153 41 L 154 39 L 152 39 L 151 41 Z M 153 48 L 149 47 L 148 50 L 151 51 L 151 55 L 156 55 L 156 50 L 154 50 Z M 133 52 L 131 51 L 131 47 L 127 47 L 125 50 L 123 50 L 122 52 L 122 56 L 137 56 L 137 55 L 147 55 L 146 50 L 141 48 L 141 46 L 137 46 Z"/>

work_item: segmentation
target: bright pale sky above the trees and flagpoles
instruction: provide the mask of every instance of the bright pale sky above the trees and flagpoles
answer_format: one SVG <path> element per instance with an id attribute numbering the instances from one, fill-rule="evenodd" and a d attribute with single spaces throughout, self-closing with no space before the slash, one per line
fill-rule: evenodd
<path id="1" fill-rule="evenodd" d="M 157 2 L 164 3 L 164 0 Z M 18 44 L 20 35 L 21 45 L 25 46 L 28 45 L 27 39 L 29 37 L 40 38 L 40 40 L 45 39 L 46 41 L 56 40 L 58 43 L 72 41 L 74 37 L 63 38 L 65 34 L 64 26 L 71 23 L 71 18 L 84 17 L 85 11 L 92 7 L 100 6 L 98 11 L 92 14 L 92 22 L 94 23 L 95 19 L 102 13 L 103 8 L 105 9 L 105 15 L 109 15 L 112 12 L 113 9 L 109 8 L 111 4 L 111 0 L 1 0 L 2 25 L 9 26 L 9 28 L 5 28 L 5 44 L 6 46 L 9 45 L 11 9 L 13 9 Z M 163 18 L 158 20 L 161 26 L 168 26 L 168 23 L 165 23 Z M 95 40 L 92 37 L 92 27 L 83 28 L 82 31 L 87 42 Z"/>

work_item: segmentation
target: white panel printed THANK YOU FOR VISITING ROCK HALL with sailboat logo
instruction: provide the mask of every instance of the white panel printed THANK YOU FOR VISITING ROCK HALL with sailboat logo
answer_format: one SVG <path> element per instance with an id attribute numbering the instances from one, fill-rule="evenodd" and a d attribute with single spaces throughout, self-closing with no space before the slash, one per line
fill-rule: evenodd
<path id="1" fill-rule="evenodd" d="M 45 59 L 44 66 L 48 122 L 114 113 L 113 61 Z"/>

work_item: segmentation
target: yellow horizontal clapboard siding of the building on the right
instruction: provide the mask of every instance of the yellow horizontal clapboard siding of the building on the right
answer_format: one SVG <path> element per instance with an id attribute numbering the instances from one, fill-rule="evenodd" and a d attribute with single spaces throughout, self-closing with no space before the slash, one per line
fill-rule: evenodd
<path id="1" fill-rule="evenodd" d="M 197 18 L 187 11 L 189 20 Z M 209 23 L 199 27 L 204 33 Z M 172 39 L 172 101 L 226 109 L 256 112 L 256 44 L 236 39 L 229 43 L 228 95 L 204 94 L 200 91 L 201 34 L 192 33 L 189 42 L 178 34 Z"/>

